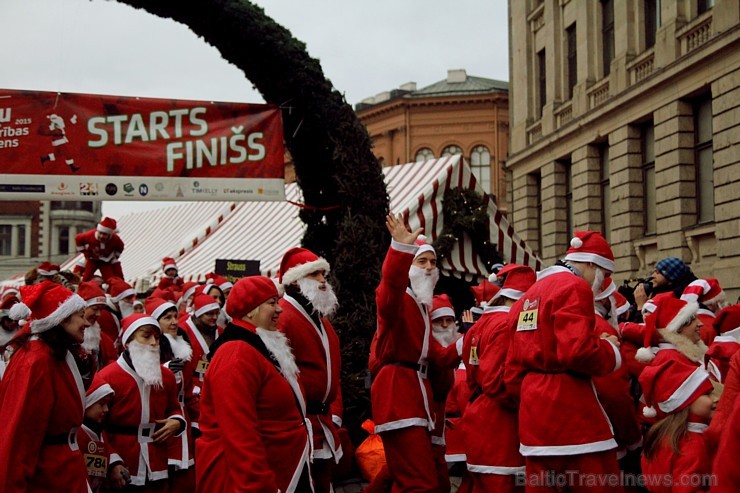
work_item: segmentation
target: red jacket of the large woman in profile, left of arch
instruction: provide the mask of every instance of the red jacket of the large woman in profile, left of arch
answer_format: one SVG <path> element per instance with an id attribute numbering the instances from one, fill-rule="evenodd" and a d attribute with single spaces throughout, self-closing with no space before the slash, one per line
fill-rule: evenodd
<path id="1" fill-rule="evenodd" d="M 224 340 L 201 395 L 198 491 L 292 492 L 309 460 L 298 382 L 280 373 L 251 324 L 233 321 Z"/>

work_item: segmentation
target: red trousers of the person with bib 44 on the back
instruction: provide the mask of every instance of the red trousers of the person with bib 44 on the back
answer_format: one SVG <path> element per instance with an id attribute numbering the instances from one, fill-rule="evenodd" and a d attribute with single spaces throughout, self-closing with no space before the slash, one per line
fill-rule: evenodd
<path id="1" fill-rule="evenodd" d="M 616 450 L 580 455 L 529 456 L 526 493 L 622 493 Z"/>

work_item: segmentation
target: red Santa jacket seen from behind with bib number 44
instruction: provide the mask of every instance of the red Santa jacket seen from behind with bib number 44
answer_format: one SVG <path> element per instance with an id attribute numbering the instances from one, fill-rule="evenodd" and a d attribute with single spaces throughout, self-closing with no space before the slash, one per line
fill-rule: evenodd
<path id="1" fill-rule="evenodd" d="M 617 446 L 591 377 L 619 369 L 622 359 L 615 345 L 596 335 L 593 303 L 586 281 L 554 266 L 540 272 L 511 309 L 514 334 L 505 379 L 507 387 L 521 388 L 519 450 L 524 456 Z"/>

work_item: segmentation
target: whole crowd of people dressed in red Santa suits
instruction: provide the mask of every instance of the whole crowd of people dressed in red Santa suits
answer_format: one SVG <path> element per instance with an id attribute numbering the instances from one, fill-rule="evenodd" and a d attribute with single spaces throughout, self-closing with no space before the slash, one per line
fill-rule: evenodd
<path id="1" fill-rule="evenodd" d="M 740 305 L 716 279 L 667 258 L 630 303 L 608 242 L 576 231 L 456 310 L 422 231 L 386 226 L 356 355 L 385 455 L 365 491 L 740 490 Z M 329 263 L 292 248 L 275 279 L 188 283 L 165 258 L 137 300 L 115 228 L 78 235 L 78 275 L 45 262 L 0 295 L 0 489 L 333 491 L 351 450 Z"/>

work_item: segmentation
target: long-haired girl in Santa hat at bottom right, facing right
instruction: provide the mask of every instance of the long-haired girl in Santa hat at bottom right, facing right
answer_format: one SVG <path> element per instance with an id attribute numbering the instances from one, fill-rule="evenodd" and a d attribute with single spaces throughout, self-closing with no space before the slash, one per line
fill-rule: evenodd
<path id="1" fill-rule="evenodd" d="M 645 435 L 645 487 L 653 493 L 708 491 L 712 470 L 703 433 L 718 400 L 709 374 L 666 359 L 645 368 L 640 385 L 648 404 L 643 413 L 660 419 Z"/>

